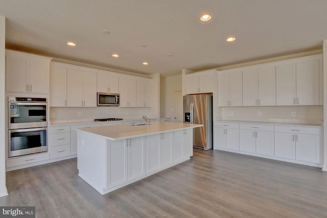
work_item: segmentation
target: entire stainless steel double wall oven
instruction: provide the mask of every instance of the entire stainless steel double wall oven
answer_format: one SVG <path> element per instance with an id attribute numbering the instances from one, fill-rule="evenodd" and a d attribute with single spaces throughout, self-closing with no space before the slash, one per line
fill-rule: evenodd
<path id="1" fill-rule="evenodd" d="M 9 97 L 9 158 L 48 151 L 46 98 Z"/>

